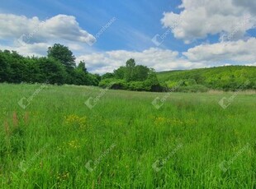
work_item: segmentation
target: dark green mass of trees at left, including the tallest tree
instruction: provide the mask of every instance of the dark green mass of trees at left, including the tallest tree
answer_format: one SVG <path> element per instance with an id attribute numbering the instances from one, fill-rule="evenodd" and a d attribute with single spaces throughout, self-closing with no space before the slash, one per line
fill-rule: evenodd
<path id="1" fill-rule="evenodd" d="M 0 50 L 0 82 L 98 85 L 100 76 L 88 73 L 85 62 L 76 67 L 74 59 L 69 48 L 60 44 L 49 48 L 47 58 L 25 58 Z"/>

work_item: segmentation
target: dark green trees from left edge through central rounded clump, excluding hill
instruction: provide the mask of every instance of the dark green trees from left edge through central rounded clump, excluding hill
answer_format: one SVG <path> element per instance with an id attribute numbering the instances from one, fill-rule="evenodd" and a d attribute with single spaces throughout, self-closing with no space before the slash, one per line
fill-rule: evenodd
<path id="1" fill-rule="evenodd" d="M 54 44 L 48 48 L 46 57 L 24 57 L 16 51 L 0 50 L 0 82 L 49 83 L 57 85 L 100 85 L 123 90 L 160 90 L 153 69 L 135 65 L 130 59 L 125 67 L 103 76 L 89 73 L 85 62 L 76 65 L 75 57 L 68 47 Z M 114 83 L 109 86 L 110 83 Z"/>

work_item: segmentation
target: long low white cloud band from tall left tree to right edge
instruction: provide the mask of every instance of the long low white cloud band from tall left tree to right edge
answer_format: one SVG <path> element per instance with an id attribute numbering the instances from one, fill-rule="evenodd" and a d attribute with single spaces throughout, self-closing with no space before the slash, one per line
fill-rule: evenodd
<path id="1" fill-rule="evenodd" d="M 124 66 L 129 58 L 135 58 L 138 64 L 153 67 L 156 71 L 168 71 L 223 66 L 227 65 L 227 61 L 255 66 L 255 52 L 256 39 L 250 38 L 216 44 L 201 44 L 189 48 L 183 56 L 169 49 L 149 48 L 141 52 L 116 50 L 92 53 L 78 57 L 78 61 L 84 60 L 89 71 L 99 74 Z"/>

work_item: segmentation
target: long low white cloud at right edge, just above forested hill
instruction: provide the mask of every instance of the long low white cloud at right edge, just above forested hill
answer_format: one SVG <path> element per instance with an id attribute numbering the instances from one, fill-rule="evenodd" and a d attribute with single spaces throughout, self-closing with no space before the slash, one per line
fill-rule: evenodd
<path id="1" fill-rule="evenodd" d="M 256 62 L 256 38 L 246 41 L 228 41 L 217 44 L 201 44 L 183 53 L 192 62 Z"/>

